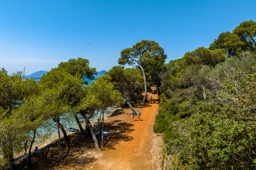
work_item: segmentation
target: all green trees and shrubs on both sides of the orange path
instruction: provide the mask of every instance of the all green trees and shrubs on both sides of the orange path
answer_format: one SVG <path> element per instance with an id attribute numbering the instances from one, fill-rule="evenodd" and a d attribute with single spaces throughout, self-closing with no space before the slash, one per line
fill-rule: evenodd
<path id="1" fill-rule="evenodd" d="M 46 140 L 53 129 L 61 162 L 60 137 L 69 145 L 63 125 L 69 121 L 101 151 L 107 109 L 123 105 L 134 111 L 155 86 L 161 103 L 153 130 L 163 133 L 169 160 L 164 169 L 255 169 L 255 37 L 256 23 L 244 21 L 209 48 L 166 64 L 164 49 L 142 40 L 121 51 L 119 66 L 89 84 L 85 79 L 93 79 L 96 69 L 84 58 L 61 62 L 38 82 L 1 69 L 0 166 L 16 169 L 14 156 L 28 149 L 30 167 L 35 140 Z M 126 64 L 134 68 L 124 69 Z M 97 128 L 90 121 L 96 115 Z M 95 131 L 101 131 L 100 142 Z"/>

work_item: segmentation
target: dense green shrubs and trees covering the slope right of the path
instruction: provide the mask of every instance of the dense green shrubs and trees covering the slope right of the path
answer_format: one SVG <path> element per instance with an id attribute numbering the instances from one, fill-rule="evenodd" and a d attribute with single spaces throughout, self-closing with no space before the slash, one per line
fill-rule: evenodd
<path id="1" fill-rule="evenodd" d="M 255 38 L 256 23 L 244 21 L 163 66 L 154 132 L 164 169 L 256 168 Z"/>

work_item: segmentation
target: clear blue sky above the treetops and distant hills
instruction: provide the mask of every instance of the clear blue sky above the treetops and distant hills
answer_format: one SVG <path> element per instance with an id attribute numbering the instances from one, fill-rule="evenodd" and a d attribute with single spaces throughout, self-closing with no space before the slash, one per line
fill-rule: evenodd
<path id="1" fill-rule="evenodd" d="M 243 21 L 256 21 L 255 6 L 255 0 L 1 0 L 0 68 L 26 67 L 29 75 L 83 57 L 108 71 L 121 50 L 142 39 L 159 43 L 167 63 L 209 47 Z"/>

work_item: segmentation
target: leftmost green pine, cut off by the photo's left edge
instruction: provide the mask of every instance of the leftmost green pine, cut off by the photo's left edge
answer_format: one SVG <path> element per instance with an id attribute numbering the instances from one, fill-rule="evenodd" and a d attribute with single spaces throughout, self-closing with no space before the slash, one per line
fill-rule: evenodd
<path id="1" fill-rule="evenodd" d="M 35 80 L 22 80 L 21 73 L 0 71 L 0 162 L 4 167 L 15 168 L 13 155 L 22 149 L 20 143 L 26 140 L 29 129 L 37 125 L 34 114 L 20 112 L 26 98 L 37 92 Z"/>

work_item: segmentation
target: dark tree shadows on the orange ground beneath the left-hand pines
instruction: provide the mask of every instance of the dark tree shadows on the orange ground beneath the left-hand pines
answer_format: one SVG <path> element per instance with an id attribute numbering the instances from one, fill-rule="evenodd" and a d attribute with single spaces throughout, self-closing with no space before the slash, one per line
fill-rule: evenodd
<path id="1" fill-rule="evenodd" d="M 118 113 L 125 114 L 125 113 Z M 115 120 L 105 123 L 105 131 L 111 131 L 104 138 L 106 149 L 116 149 L 115 145 L 120 141 L 130 141 L 133 138 L 129 135 L 134 131 L 131 127 L 133 124 Z M 96 129 L 94 129 L 96 130 Z M 101 136 L 98 136 L 98 141 L 101 143 Z M 66 167 L 74 167 L 75 169 L 85 168 L 85 165 L 97 162 L 97 158 L 91 157 L 88 154 L 93 152 L 94 142 L 91 138 L 87 138 L 80 133 L 70 136 L 71 142 L 61 141 L 61 154 L 63 161 L 59 162 L 59 147 L 58 142 L 40 150 L 31 157 L 32 167 L 28 167 L 28 159 L 20 160 L 16 163 L 17 169 L 67 169 Z"/>

